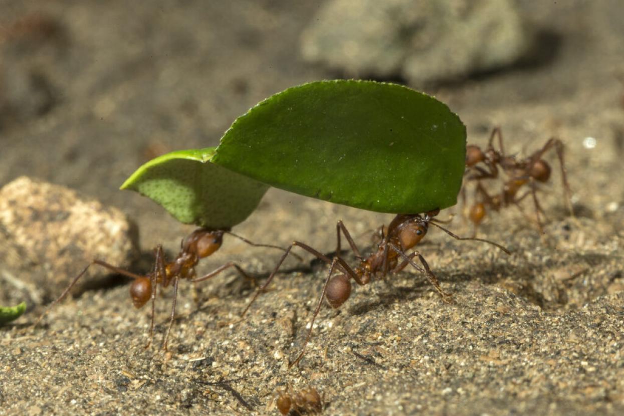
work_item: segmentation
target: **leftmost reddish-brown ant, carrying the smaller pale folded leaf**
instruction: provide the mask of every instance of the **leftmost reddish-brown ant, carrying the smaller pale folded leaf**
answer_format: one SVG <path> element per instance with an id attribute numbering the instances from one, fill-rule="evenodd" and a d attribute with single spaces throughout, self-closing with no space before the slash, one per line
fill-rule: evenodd
<path id="1" fill-rule="evenodd" d="M 210 230 L 207 228 L 198 228 L 188 235 L 186 238 L 182 239 L 182 243 L 180 244 L 180 253 L 176 256 L 173 261 L 166 262 L 165 255 L 163 253 L 162 246 L 158 244 L 155 249 L 155 262 L 154 262 L 154 271 L 145 276 L 140 276 L 139 274 L 132 273 L 130 271 L 118 268 L 113 266 L 112 264 L 105 263 L 101 260 L 93 260 L 91 263 L 87 264 L 87 266 L 82 269 L 82 271 L 72 280 L 72 282 L 67 286 L 67 288 L 63 291 L 61 296 L 56 299 L 56 301 L 52 302 L 52 304 L 47 307 L 46 311 L 39 316 L 37 321 L 32 325 L 37 326 L 41 319 L 46 316 L 47 312 L 49 312 L 54 305 L 58 302 L 62 301 L 64 297 L 67 296 L 71 288 L 77 283 L 77 281 L 84 276 L 87 272 L 87 269 L 92 264 L 99 264 L 100 266 L 104 266 L 105 268 L 114 271 L 115 273 L 123 274 L 124 276 L 128 276 L 129 278 L 134 279 L 132 284 L 130 284 L 130 297 L 132 297 L 132 303 L 137 308 L 144 306 L 147 301 L 152 299 L 152 320 L 150 324 L 150 341 L 147 343 L 145 348 L 149 347 L 152 343 L 152 339 L 154 338 L 154 301 L 156 298 L 157 286 L 160 284 L 162 288 L 167 288 L 170 284 L 173 284 L 173 301 L 171 307 L 171 316 L 169 320 L 169 326 L 167 328 L 167 334 L 165 335 L 162 348 L 167 349 L 167 339 L 169 337 L 169 332 L 171 331 L 171 327 L 173 326 L 173 318 L 175 316 L 175 302 L 177 300 L 178 294 L 178 282 L 180 279 L 188 279 L 193 283 L 201 282 L 213 278 L 217 276 L 217 274 L 221 273 L 225 269 L 235 268 L 238 273 L 245 276 L 247 279 L 255 280 L 255 278 L 249 276 L 243 269 L 240 268 L 237 264 L 229 261 L 228 263 L 223 264 L 219 268 L 213 270 L 212 272 L 197 278 L 195 275 L 195 266 L 199 263 L 200 259 L 210 256 L 210 254 L 215 253 L 223 242 L 223 235 L 229 234 L 233 237 L 236 237 L 247 244 L 255 247 L 268 247 L 268 248 L 276 248 L 281 251 L 286 251 L 284 248 L 273 246 L 271 244 L 256 244 L 249 241 L 246 238 L 243 238 L 239 235 L 232 233 L 230 230 Z"/>

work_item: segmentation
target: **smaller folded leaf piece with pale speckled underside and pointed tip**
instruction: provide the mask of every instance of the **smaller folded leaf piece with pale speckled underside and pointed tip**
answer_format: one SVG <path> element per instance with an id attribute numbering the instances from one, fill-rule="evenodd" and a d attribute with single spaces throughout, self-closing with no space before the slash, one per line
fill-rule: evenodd
<path id="1" fill-rule="evenodd" d="M 268 186 L 210 162 L 215 148 L 180 150 L 145 163 L 121 186 L 162 205 L 178 221 L 228 229 L 258 206 Z"/>

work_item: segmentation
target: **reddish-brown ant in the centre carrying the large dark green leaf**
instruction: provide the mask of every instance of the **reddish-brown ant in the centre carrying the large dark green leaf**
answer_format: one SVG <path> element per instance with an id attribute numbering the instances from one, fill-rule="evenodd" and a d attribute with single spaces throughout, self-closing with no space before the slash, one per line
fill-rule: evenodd
<path id="1" fill-rule="evenodd" d="M 422 238 L 424 238 L 424 236 L 427 234 L 427 230 L 429 229 L 429 224 L 440 228 L 452 238 L 460 240 L 483 241 L 485 243 L 497 246 L 507 254 L 510 253 L 506 248 L 492 241 L 480 238 L 463 238 L 451 233 L 451 231 L 446 230 L 446 228 L 438 224 L 441 221 L 434 219 L 439 211 L 440 210 L 433 210 L 424 214 L 399 214 L 395 216 L 389 224 L 386 233 L 384 233 L 377 250 L 370 254 L 368 257 L 362 256 L 358 247 L 353 241 L 353 238 L 351 238 L 349 231 L 347 230 L 346 226 L 344 226 L 342 221 L 338 221 L 338 223 L 336 224 L 336 254 L 334 254 L 333 258 L 331 259 L 328 256 L 321 254 L 319 251 L 311 248 L 307 244 L 301 243 L 300 241 L 293 241 L 293 243 L 286 249 L 286 252 L 281 256 L 281 259 L 275 269 L 273 269 L 273 272 L 270 274 L 268 279 L 266 279 L 265 284 L 263 284 L 261 288 L 256 291 L 249 304 L 245 307 L 245 310 L 242 312 L 241 316 L 245 315 L 245 313 L 249 310 L 251 304 L 255 302 L 260 293 L 265 291 L 266 287 L 271 283 L 271 280 L 273 280 L 273 277 L 280 269 L 280 266 L 286 259 L 286 256 L 288 256 L 288 254 L 291 252 L 291 249 L 293 249 L 293 247 L 295 246 L 300 247 L 305 251 L 308 251 L 308 253 L 313 254 L 317 258 L 321 259 L 321 261 L 324 261 L 330 266 L 329 273 L 327 275 L 327 278 L 325 279 L 325 283 L 323 286 L 323 291 L 321 292 L 318 304 L 316 305 L 316 309 L 314 309 L 312 315 L 310 330 L 308 331 L 308 335 L 306 336 L 303 348 L 301 349 L 300 354 L 296 357 L 295 361 L 293 361 L 289 365 L 289 367 L 292 367 L 293 365 L 298 363 L 305 353 L 306 346 L 308 345 L 308 342 L 310 341 L 310 336 L 312 334 L 314 319 L 316 319 L 316 316 L 321 309 L 321 305 L 323 304 L 323 298 L 327 297 L 327 301 L 331 307 L 337 308 L 341 306 L 347 299 L 349 299 L 349 296 L 351 295 L 351 279 L 356 281 L 356 283 L 360 286 L 363 286 L 364 284 L 369 283 L 369 281 L 371 281 L 371 278 L 376 278 L 378 273 L 381 273 L 383 276 L 386 276 L 386 274 L 388 273 L 397 273 L 402 269 L 406 268 L 408 264 L 410 264 L 412 267 L 425 274 L 429 282 L 436 289 L 437 293 L 442 296 L 442 299 L 450 301 L 451 295 L 442 291 L 436 275 L 431 271 L 431 269 L 429 268 L 429 264 L 427 264 L 427 261 L 422 257 L 421 253 L 419 253 L 419 251 L 417 250 L 414 250 L 411 254 L 406 253 L 406 251 L 414 248 L 414 246 L 416 246 L 416 244 L 418 244 L 422 240 Z M 344 261 L 344 259 L 340 257 L 340 233 L 343 233 L 344 237 L 349 243 L 349 246 L 351 246 L 351 249 L 353 250 L 356 258 L 359 259 L 359 264 L 355 268 L 351 268 L 351 266 L 349 266 L 349 264 L 347 264 L 346 261 Z M 414 257 L 418 258 L 420 265 L 414 262 Z M 341 273 L 336 274 L 336 276 L 332 276 L 336 267 L 340 269 Z"/>

